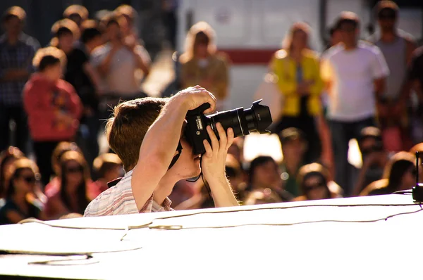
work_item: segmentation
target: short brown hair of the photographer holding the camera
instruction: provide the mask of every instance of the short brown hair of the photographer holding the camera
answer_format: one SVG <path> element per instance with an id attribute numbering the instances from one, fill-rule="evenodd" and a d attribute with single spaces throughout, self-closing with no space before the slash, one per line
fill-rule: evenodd
<path id="1" fill-rule="evenodd" d="M 121 158 L 126 172 L 135 167 L 141 143 L 159 117 L 167 98 L 137 98 L 120 103 L 107 120 L 106 136 L 110 148 Z"/>

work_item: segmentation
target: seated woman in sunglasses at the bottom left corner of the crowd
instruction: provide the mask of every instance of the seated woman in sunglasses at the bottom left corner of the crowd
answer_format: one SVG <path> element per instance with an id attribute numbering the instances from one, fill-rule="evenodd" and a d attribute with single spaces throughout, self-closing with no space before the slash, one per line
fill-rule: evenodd
<path id="1" fill-rule="evenodd" d="M 16 224 L 29 217 L 44 219 L 41 205 L 33 199 L 39 178 L 37 165 L 32 160 L 20 158 L 7 173 L 8 187 L 5 204 L 0 206 L 0 224 Z"/>

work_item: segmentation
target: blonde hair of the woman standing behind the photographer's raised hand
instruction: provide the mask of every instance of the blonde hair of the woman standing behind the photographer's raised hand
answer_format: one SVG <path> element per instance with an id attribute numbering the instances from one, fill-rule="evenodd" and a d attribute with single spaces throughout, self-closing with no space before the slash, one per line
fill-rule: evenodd
<path id="1" fill-rule="evenodd" d="M 207 46 L 209 54 L 216 53 L 216 32 L 214 32 L 214 29 L 208 23 L 206 23 L 205 21 L 200 21 L 199 23 L 195 23 L 195 25 L 192 25 L 190 31 L 187 34 L 187 37 L 185 39 L 185 53 L 180 56 L 181 63 L 186 63 L 195 56 L 196 38 L 197 34 L 199 34 L 200 32 L 204 33 L 209 39 L 209 44 Z"/>

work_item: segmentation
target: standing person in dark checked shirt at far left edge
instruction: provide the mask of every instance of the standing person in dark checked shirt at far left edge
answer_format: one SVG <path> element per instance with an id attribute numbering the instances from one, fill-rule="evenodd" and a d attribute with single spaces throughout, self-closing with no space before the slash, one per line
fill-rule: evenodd
<path id="1" fill-rule="evenodd" d="M 27 153 L 29 137 L 22 91 L 33 71 L 32 58 L 39 43 L 23 34 L 25 17 L 23 8 L 13 6 L 1 18 L 5 34 L 0 37 L 0 151 L 12 144 L 9 122 L 13 120 L 16 124 L 14 145 Z"/>

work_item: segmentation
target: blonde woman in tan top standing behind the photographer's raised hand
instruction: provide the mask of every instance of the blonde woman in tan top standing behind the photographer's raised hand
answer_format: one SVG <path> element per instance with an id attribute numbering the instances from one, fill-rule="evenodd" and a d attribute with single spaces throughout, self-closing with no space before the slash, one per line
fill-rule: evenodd
<path id="1" fill-rule="evenodd" d="M 216 52 L 216 34 L 205 22 L 192 25 L 185 40 L 185 53 L 180 56 L 182 87 L 200 85 L 216 96 L 217 110 L 223 110 L 229 88 L 229 65 L 222 53 Z"/>

